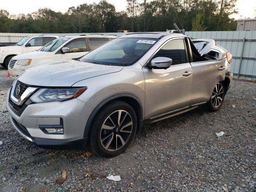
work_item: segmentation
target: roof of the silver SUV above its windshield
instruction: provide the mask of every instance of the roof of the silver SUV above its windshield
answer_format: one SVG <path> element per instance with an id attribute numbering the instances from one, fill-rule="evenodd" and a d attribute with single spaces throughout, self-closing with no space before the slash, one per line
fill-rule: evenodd
<path id="1" fill-rule="evenodd" d="M 170 33 L 168 32 L 140 32 L 140 33 L 128 33 L 126 35 L 120 36 L 119 38 L 155 38 L 159 39 L 163 36 L 170 35 L 172 37 L 183 37 L 185 35 L 180 33 Z"/>

